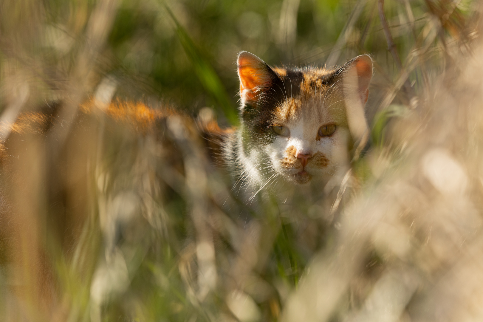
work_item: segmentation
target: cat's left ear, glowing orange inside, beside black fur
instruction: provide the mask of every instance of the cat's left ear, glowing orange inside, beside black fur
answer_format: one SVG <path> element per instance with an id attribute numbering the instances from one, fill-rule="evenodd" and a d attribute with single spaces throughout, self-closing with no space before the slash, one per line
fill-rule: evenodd
<path id="1" fill-rule="evenodd" d="M 241 52 L 237 63 L 241 100 L 257 101 L 260 94 L 270 87 L 275 73 L 263 60 L 249 52 Z"/>

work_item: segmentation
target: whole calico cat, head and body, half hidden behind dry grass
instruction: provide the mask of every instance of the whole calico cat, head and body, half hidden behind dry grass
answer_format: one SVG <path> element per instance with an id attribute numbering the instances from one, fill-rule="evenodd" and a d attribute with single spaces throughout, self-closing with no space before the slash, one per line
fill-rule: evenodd
<path id="1" fill-rule="evenodd" d="M 23 287 L 31 288 L 34 302 L 48 317 L 44 320 L 61 316 L 64 304 L 56 288 L 60 278 L 46 255 L 49 248 L 42 234 L 54 236 L 54 244 L 65 254 L 77 253 L 88 236 L 85 234 L 91 231 L 85 228 L 94 225 L 86 223 L 99 222 L 96 225 L 102 232 L 105 265 L 109 266 L 119 253 L 121 237 L 125 244 L 138 245 L 145 241 L 148 229 L 167 236 L 165 232 L 171 229 L 170 233 L 175 234 L 174 224 L 165 220 L 166 209 L 173 211 L 173 218 L 186 213 L 186 217 L 192 217 L 196 233 L 185 238 L 192 240 L 196 235 L 197 245 L 204 245 L 200 252 L 196 247 L 195 252 L 186 251 L 191 254 L 186 255 L 187 263 L 195 261 L 192 257 L 196 254 L 198 267 L 213 273 L 214 266 L 210 265 L 214 265 L 214 238 L 227 240 L 236 250 L 224 262 L 227 271 L 236 272 L 231 276 L 235 284 L 226 286 L 228 292 L 240 287 L 256 265 L 265 265 L 264 258 L 269 256 L 280 228 L 280 218 L 266 226 L 257 223 L 263 219 L 247 224 L 248 213 L 254 209 L 270 217 L 263 205 L 256 207 L 260 203 L 255 200 L 270 195 L 284 203 L 296 197 L 304 202 L 294 204 L 307 209 L 307 205 L 320 200 L 328 181 L 347 172 L 350 150 L 354 143 L 364 141 L 367 130 L 363 106 L 372 74 L 369 56 L 358 56 L 335 69 L 282 69 L 270 68 L 256 56 L 243 52 L 238 59 L 238 73 L 241 125 L 237 128 L 220 129 L 213 119 L 203 117 L 197 127 L 193 119 L 167 108 L 92 99 L 81 105 L 69 136 L 58 149 L 61 153 L 54 158 L 51 148 L 59 144 L 55 129 L 64 123 L 57 116 L 63 108 L 61 103 L 21 113 L 14 124 L 0 124 L 8 129 L 2 129 L 2 133 L 11 134 L 0 146 L 4 181 L 0 193 L 0 250 L 7 254 L 0 258 L 0 265 L 28 267 L 16 270 L 10 279 L 17 283 L 26 276 L 35 277 Z M 208 177 L 213 167 L 199 134 L 208 139 L 205 143 L 214 163 L 229 176 L 232 195 L 241 204 L 227 206 L 229 193 L 210 186 L 213 178 Z M 319 196 L 313 198 L 313 193 Z M 185 208 L 170 208 L 173 196 Z M 214 211 L 234 204 L 236 209 L 225 212 L 231 216 L 229 220 Z M 278 206 L 273 208 L 284 212 Z M 320 213 L 322 208 L 315 210 Z M 240 210 L 246 217 L 238 220 Z M 295 212 L 285 214 L 293 218 Z M 308 218 L 304 211 L 298 214 Z M 216 223 L 230 220 L 242 221 L 242 225 L 227 224 L 229 229 L 217 231 Z M 298 236 L 319 236 L 318 222 L 314 223 L 299 225 Z M 304 233 L 307 229 L 311 233 Z M 317 242 L 306 244 L 317 247 Z M 212 246 L 212 257 L 201 252 Z M 89 254 L 98 251 L 86 250 Z M 216 258 L 224 253 L 216 252 Z M 243 257 L 246 252 L 255 252 L 257 260 L 248 263 Z M 95 267 L 89 265 L 104 265 L 102 261 L 96 263 L 87 263 L 79 270 L 91 271 Z M 77 269 L 77 265 L 73 267 Z M 207 282 L 209 287 L 214 287 L 214 281 Z M 199 279 L 199 285 L 203 283 Z M 101 301 L 101 295 L 92 298 Z"/>

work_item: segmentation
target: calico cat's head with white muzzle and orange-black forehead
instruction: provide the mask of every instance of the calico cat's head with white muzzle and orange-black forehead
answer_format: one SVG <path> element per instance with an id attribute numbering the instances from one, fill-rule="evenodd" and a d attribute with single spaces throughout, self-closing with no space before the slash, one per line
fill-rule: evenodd
<path id="1" fill-rule="evenodd" d="M 241 52 L 238 75 L 243 157 L 254 175 L 306 184 L 346 168 L 367 135 L 369 56 L 338 68 L 279 68 Z"/>

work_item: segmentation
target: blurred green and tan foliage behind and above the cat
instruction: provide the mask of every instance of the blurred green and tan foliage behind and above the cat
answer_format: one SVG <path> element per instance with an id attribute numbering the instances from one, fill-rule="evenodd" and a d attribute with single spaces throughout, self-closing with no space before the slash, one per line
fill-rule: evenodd
<path id="1" fill-rule="evenodd" d="M 5 1 L 4 55 L 8 56 L 11 46 L 19 45 L 20 39 L 15 38 L 23 38 L 30 47 L 30 55 L 24 58 L 42 59 L 43 66 L 37 68 L 48 67 L 49 73 L 56 73 L 42 75 L 47 77 L 46 86 L 56 89 L 58 84 L 50 83 L 57 77 L 67 78 L 82 44 L 89 41 L 85 28 L 95 5 L 96 1 L 86 0 L 27 1 L 26 10 Z M 469 0 L 384 3 L 403 65 L 413 51 L 429 46 L 423 49 L 427 53 L 419 53 L 426 54 L 418 58 L 419 66 L 408 71 L 409 84 L 416 91 L 430 84 L 431 77 L 445 66 L 448 57 L 440 47 L 451 46 L 453 38 L 471 38 L 467 26 L 474 19 L 471 13 Z M 35 21 L 42 22 L 43 30 Z M 18 29 L 19 25 L 24 27 Z M 32 30 L 26 33 L 29 26 Z M 241 50 L 270 65 L 293 66 L 324 65 L 331 53 L 331 65 L 369 53 L 376 62 L 372 85 L 376 92 L 395 83 L 398 75 L 398 64 L 387 48 L 378 2 L 373 0 L 125 0 L 117 4 L 91 86 L 99 82 L 99 75 L 113 74 L 122 83 L 117 91 L 120 96 L 162 98 L 189 111 L 211 106 L 235 122 L 239 85 L 235 61 Z M 371 98 L 369 117 L 380 103 Z"/>

